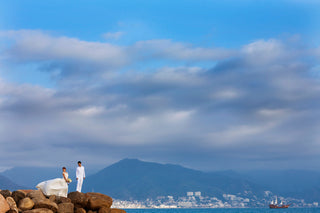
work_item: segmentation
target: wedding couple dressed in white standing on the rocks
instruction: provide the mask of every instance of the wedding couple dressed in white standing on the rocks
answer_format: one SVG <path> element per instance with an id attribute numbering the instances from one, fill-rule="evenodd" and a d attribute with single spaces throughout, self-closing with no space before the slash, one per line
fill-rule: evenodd
<path id="1" fill-rule="evenodd" d="M 69 174 L 66 167 L 62 167 L 63 178 L 55 178 L 39 183 L 36 188 L 40 189 L 45 195 L 56 195 L 67 197 L 68 196 L 68 184 L 71 183 Z M 84 167 L 81 161 L 78 161 L 78 167 L 76 171 L 77 178 L 77 191 L 81 192 L 83 180 L 86 178 Z"/>

